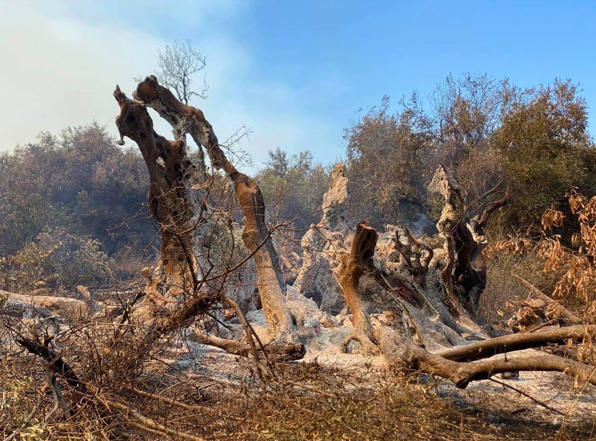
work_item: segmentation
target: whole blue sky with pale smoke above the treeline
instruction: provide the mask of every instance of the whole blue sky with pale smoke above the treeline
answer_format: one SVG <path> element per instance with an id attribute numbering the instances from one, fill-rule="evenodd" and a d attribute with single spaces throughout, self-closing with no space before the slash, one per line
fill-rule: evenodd
<path id="1" fill-rule="evenodd" d="M 91 119 L 115 132 L 115 83 L 131 92 L 131 77 L 149 72 L 155 49 L 175 38 L 207 56 L 209 98 L 195 104 L 221 139 L 250 126 L 243 147 L 257 166 L 277 146 L 331 162 L 359 108 L 383 94 L 395 104 L 414 89 L 425 94 L 449 73 L 522 87 L 571 78 L 596 103 L 594 2 L 0 0 L 0 8 L 4 150 Z"/>

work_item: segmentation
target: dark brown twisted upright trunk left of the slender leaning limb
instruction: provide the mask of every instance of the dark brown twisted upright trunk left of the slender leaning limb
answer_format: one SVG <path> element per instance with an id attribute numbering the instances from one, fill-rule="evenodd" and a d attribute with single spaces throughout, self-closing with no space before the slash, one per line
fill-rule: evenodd
<path id="1" fill-rule="evenodd" d="M 131 138 L 141 151 L 150 177 L 148 209 L 162 228 L 162 266 L 150 277 L 147 299 L 151 313 L 172 312 L 199 289 L 207 268 L 194 253 L 194 235 L 207 226 L 200 215 L 204 194 L 195 186 L 197 174 L 187 160 L 185 139 L 168 141 L 157 135 L 145 105 L 130 100 L 118 87 L 114 98 L 120 105 L 120 137 Z"/>

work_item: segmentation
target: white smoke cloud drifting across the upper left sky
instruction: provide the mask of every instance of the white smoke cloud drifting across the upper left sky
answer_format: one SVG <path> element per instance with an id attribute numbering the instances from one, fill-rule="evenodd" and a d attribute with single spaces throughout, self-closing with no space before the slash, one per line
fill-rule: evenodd
<path id="1" fill-rule="evenodd" d="M 111 11 L 113 19 L 93 10 L 77 16 L 62 5 L 55 10 L 18 2 L 2 7 L 0 81 L 4 105 L 0 109 L 0 150 L 33 141 L 40 131 L 58 133 L 66 126 L 91 120 L 106 125 L 115 135 L 117 105 L 111 96 L 114 86 L 118 83 L 130 95 L 135 86 L 132 77 L 151 72 L 154 51 L 169 42 L 169 38 L 160 36 L 159 29 L 151 29 L 156 17 L 173 20 L 167 27 L 175 28 L 177 23 L 171 11 L 160 15 L 163 11 L 157 2 L 145 10 L 145 14 L 151 14 L 134 26 L 122 20 L 125 11 Z M 219 5 L 222 14 L 234 14 L 240 8 L 234 2 Z M 210 86 L 209 98 L 198 105 L 219 138 L 228 138 L 241 125 L 251 127 L 251 142 L 244 142 L 242 147 L 253 154 L 256 166 L 266 159 L 268 150 L 277 146 L 290 151 L 336 147 L 341 133 L 331 133 L 324 121 L 309 113 L 312 109 L 303 97 L 305 89 L 316 89 L 316 85 L 293 90 L 283 80 L 260 83 L 253 74 L 254 61 L 247 48 L 210 32 L 209 26 L 201 27 L 200 11 L 195 7 L 182 15 L 192 16 L 204 35 L 193 38 L 207 55 Z M 92 20 L 89 15 L 93 13 L 98 15 Z M 203 13 L 212 17 L 218 11 Z M 185 20 L 188 24 L 190 18 Z M 170 135 L 167 123 L 154 121 L 158 132 Z"/>

